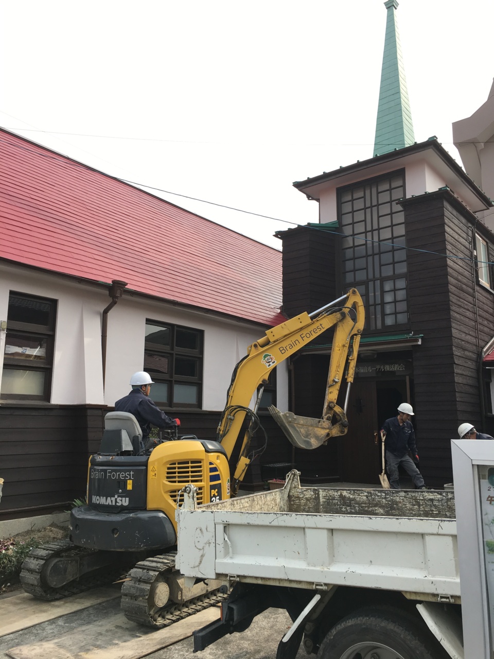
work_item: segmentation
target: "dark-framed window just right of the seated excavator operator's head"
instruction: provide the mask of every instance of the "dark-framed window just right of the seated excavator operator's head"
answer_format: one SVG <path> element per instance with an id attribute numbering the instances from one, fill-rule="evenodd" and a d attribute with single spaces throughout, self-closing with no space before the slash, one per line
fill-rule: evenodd
<path id="1" fill-rule="evenodd" d="M 202 330 L 146 320 L 144 370 L 157 405 L 202 407 L 203 357 Z"/>

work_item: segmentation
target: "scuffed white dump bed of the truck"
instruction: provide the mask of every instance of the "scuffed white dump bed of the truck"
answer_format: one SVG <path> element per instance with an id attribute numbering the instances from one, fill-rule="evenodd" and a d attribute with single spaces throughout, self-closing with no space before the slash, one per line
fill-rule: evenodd
<path id="1" fill-rule="evenodd" d="M 192 490 L 192 488 L 187 488 Z M 454 493 L 300 487 L 177 510 L 186 577 L 460 602 Z"/>

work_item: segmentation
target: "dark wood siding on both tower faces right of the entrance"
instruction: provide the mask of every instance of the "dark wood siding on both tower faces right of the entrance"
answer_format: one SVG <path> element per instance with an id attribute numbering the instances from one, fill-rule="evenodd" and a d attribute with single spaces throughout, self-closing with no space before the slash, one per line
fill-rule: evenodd
<path id="1" fill-rule="evenodd" d="M 429 486 L 453 478 L 451 438 L 461 422 L 481 426 L 480 349 L 494 333 L 493 294 L 472 268 L 475 218 L 451 192 L 406 200 L 408 305 L 412 331 L 423 334 L 413 353 L 421 470 Z M 476 325 L 478 318 L 478 328 Z"/>

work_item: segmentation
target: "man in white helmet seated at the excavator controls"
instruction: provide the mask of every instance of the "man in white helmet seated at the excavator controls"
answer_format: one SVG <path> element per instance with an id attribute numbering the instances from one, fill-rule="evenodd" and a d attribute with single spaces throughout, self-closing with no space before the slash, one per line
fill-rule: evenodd
<path id="1" fill-rule="evenodd" d="M 115 412 L 133 414 L 142 430 L 142 441 L 147 446 L 151 425 L 157 428 L 177 428 L 180 419 L 165 415 L 150 399 L 151 376 L 146 371 L 138 371 L 130 378 L 132 391 L 115 403 Z"/>

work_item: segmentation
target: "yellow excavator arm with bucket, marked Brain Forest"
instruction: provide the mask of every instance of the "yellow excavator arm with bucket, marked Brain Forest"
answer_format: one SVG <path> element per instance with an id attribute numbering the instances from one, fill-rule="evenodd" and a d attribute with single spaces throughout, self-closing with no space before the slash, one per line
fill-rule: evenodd
<path id="1" fill-rule="evenodd" d="M 256 412 L 262 389 L 272 368 L 294 355 L 317 336 L 335 326 L 331 360 L 326 387 L 323 415 L 320 419 L 282 413 L 269 407 L 292 444 L 300 448 L 316 448 L 330 437 L 346 433 L 346 406 L 350 384 L 353 382 L 355 365 L 364 328 L 364 304 L 356 289 L 330 302 L 317 311 L 306 312 L 268 329 L 261 339 L 248 347 L 247 355 L 236 364 L 227 395 L 227 405 L 218 426 L 217 440 L 230 458 L 242 431 L 246 416 L 250 424 L 242 438 L 240 455 L 232 478 L 232 490 L 236 492 L 250 463 L 247 457 L 250 438 L 256 423 Z M 343 409 L 337 405 L 341 380 L 346 379 L 347 390 Z M 254 393 L 261 386 L 254 409 L 249 405 Z"/>

